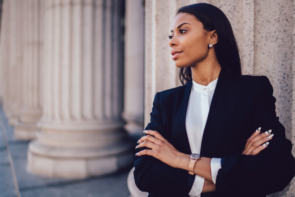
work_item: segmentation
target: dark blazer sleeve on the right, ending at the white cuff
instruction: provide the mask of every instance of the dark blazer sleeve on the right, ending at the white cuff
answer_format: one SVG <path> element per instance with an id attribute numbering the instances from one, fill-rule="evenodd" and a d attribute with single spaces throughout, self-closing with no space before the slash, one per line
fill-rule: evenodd
<path id="1" fill-rule="evenodd" d="M 251 128 L 255 131 L 261 126 L 260 133 L 271 129 L 274 136 L 257 155 L 223 157 L 216 178 L 217 192 L 269 195 L 283 191 L 294 177 L 292 143 L 286 139 L 285 128 L 276 116 L 273 87 L 266 76 L 261 76 L 257 88 L 259 92 L 253 95 L 257 100 Z"/>

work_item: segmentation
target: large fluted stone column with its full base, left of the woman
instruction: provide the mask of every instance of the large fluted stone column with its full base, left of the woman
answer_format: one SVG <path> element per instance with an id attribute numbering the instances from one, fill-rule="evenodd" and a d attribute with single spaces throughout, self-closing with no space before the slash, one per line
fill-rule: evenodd
<path id="1" fill-rule="evenodd" d="M 121 118 L 124 1 L 44 3 L 44 113 L 29 170 L 86 178 L 132 165 Z"/>

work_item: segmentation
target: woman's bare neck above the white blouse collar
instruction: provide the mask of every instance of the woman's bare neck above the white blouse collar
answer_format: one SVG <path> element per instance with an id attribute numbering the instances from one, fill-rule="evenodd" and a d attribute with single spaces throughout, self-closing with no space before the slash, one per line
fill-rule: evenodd
<path id="1" fill-rule="evenodd" d="M 217 79 L 221 71 L 221 66 L 216 58 L 205 58 L 194 66 L 191 66 L 192 80 L 198 84 L 207 86 Z"/>

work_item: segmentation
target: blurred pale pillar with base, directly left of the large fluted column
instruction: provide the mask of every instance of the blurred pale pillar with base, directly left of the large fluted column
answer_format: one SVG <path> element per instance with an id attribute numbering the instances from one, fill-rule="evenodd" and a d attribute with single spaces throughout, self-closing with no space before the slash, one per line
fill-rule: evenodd
<path id="1" fill-rule="evenodd" d="M 40 99 L 40 67 L 42 40 L 40 24 L 42 23 L 43 2 L 27 0 L 24 3 L 24 69 L 22 109 L 19 121 L 15 124 L 16 139 L 31 140 L 37 132 L 37 121 L 42 115 Z"/>

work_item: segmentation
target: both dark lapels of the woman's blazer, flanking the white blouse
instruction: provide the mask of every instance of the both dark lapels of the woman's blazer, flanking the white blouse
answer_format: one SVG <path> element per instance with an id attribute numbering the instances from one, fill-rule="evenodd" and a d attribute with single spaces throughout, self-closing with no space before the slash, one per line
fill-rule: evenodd
<path id="1" fill-rule="evenodd" d="M 177 136 L 178 139 L 173 144 L 176 145 L 176 148 L 180 152 L 185 154 L 191 154 L 191 148 L 186 132 L 186 111 L 191 93 L 191 87 L 192 79 L 186 83 L 180 109 L 174 117 L 174 120 L 177 121 L 172 123 L 172 129 L 173 132 L 175 132 L 174 136 Z M 214 143 L 215 141 L 220 140 L 219 137 L 222 137 L 222 133 L 219 132 L 218 128 L 222 125 L 224 120 L 228 118 L 230 111 L 229 106 L 235 105 L 235 99 L 233 95 L 234 94 L 232 92 L 230 83 L 230 75 L 226 70 L 221 69 L 202 137 L 200 154 L 204 157 L 213 157 L 212 155 L 216 153 L 216 149 L 214 150 Z"/>

